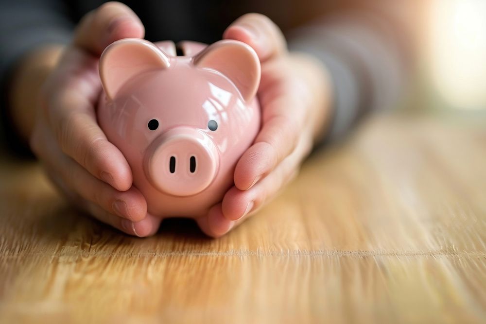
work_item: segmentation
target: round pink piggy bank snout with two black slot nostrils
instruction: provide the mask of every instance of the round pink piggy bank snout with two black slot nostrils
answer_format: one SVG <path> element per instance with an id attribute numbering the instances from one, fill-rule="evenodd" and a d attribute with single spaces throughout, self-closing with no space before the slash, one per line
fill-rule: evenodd
<path id="1" fill-rule="evenodd" d="M 216 176 L 219 154 L 203 132 L 177 127 L 159 136 L 145 155 L 145 173 L 154 187 L 174 196 L 206 189 Z"/>

